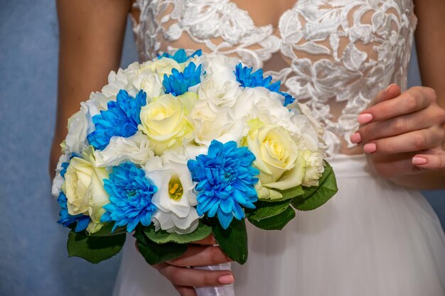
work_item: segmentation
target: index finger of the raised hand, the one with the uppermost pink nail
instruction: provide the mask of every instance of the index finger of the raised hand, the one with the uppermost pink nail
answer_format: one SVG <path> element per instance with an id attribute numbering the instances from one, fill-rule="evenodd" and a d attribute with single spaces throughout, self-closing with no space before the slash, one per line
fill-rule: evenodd
<path id="1" fill-rule="evenodd" d="M 365 109 L 358 116 L 360 124 L 384 121 L 395 116 L 410 114 L 426 108 L 436 100 L 434 90 L 428 87 L 412 87 L 394 99 L 386 100 Z M 363 122 L 365 121 L 365 122 Z"/>

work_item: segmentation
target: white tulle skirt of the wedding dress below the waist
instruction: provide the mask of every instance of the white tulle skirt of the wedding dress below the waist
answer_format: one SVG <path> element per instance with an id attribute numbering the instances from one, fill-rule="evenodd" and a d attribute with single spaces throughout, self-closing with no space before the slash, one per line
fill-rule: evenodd
<path id="1" fill-rule="evenodd" d="M 235 295 L 445 295 L 444 231 L 422 194 L 372 175 L 363 155 L 330 163 L 338 194 L 323 207 L 283 231 L 248 226 Z M 177 292 L 127 241 L 114 296 L 166 295 Z"/>

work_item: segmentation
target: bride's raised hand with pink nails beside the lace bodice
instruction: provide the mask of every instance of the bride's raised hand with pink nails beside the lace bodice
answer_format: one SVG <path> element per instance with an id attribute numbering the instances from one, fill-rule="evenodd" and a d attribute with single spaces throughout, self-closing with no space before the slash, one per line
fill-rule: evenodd
<path id="1" fill-rule="evenodd" d="M 445 111 L 429 87 L 401 94 L 391 84 L 359 116 L 362 124 L 351 136 L 382 177 L 395 179 L 425 170 L 445 170 Z"/>

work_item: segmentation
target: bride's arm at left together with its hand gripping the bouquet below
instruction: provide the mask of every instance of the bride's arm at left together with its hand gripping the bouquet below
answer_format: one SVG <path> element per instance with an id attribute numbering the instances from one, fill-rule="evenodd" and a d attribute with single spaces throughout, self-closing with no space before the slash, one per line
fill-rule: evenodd
<path id="1" fill-rule="evenodd" d="M 68 118 L 80 109 L 80 102 L 87 100 L 90 92 L 100 91 L 107 84 L 109 72 L 119 67 L 130 1 L 58 0 L 57 7 L 60 53 L 58 114 L 50 159 L 52 177 L 60 156 L 59 144 L 68 132 Z M 209 237 L 191 244 L 180 258 L 154 268 L 183 296 L 195 295 L 193 286 L 232 283 L 230 271 L 188 268 L 230 261 L 214 243 Z"/>

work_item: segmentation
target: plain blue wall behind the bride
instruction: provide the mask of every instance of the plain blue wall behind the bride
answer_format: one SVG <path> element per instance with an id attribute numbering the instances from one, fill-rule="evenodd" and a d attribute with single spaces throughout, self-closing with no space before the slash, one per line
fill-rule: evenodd
<path id="1" fill-rule="evenodd" d="M 120 257 L 99 265 L 68 258 L 68 231 L 55 223 L 48 176 L 58 62 L 54 1 L 0 0 L 0 7 L 0 295 L 111 295 Z M 128 26 L 121 65 L 135 60 Z M 412 65 L 410 84 L 420 84 L 415 58 Z M 444 192 L 427 195 L 444 224 Z"/>

